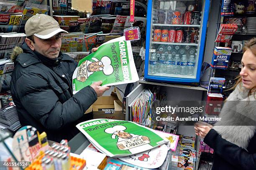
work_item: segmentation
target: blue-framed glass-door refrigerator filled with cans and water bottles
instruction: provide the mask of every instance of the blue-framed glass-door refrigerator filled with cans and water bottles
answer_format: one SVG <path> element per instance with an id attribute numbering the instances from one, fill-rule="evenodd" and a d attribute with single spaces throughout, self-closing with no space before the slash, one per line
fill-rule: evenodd
<path id="1" fill-rule="evenodd" d="M 210 0 L 148 0 L 145 79 L 197 83 Z"/>

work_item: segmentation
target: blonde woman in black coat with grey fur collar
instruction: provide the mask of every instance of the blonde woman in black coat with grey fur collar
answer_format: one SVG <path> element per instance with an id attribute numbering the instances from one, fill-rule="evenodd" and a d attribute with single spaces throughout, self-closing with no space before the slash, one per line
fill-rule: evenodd
<path id="1" fill-rule="evenodd" d="M 256 38 L 243 48 L 234 91 L 212 127 L 196 123 L 195 133 L 215 152 L 212 170 L 256 170 Z"/>

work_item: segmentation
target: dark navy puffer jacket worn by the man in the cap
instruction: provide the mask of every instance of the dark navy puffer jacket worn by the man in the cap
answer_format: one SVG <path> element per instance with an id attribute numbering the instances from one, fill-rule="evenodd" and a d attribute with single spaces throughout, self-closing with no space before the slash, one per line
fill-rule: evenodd
<path id="1" fill-rule="evenodd" d="M 14 61 L 11 93 L 20 124 L 46 132 L 49 140 L 70 140 L 84 120 L 84 112 L 97 100 L 87 86 L 72 95 L 72 75 L 77 63 L 66 54 L 49 59 L 32 51 L 26 43 Z"/>

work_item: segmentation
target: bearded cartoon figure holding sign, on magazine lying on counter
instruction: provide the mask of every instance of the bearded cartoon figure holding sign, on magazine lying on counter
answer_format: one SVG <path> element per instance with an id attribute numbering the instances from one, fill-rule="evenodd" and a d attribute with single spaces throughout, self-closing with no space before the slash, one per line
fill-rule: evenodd
<path id="1" fill-rule="evenodd" d="M 105 129 L 105 132 L 112 134 L 112 139 L 118 137 L 116 145 L 119 150 L 129 150 L 131 153 L 138 153 L 152 148 L 149 145 L 150 139 L 148 137 L 124 132 L 125 130 L 125 126 L 116 125 Z"/>

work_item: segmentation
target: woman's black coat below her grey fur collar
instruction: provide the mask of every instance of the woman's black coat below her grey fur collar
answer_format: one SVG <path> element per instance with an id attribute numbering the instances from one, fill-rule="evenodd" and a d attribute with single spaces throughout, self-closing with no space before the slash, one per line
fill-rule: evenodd
<path id="1" fill-rule="evenodd" d="M 215 129 L 208 132 L 204 142 L 215 152 L 212 170 L 256 170 L 256 134 L 247 151 L 223 139 Z"/>

